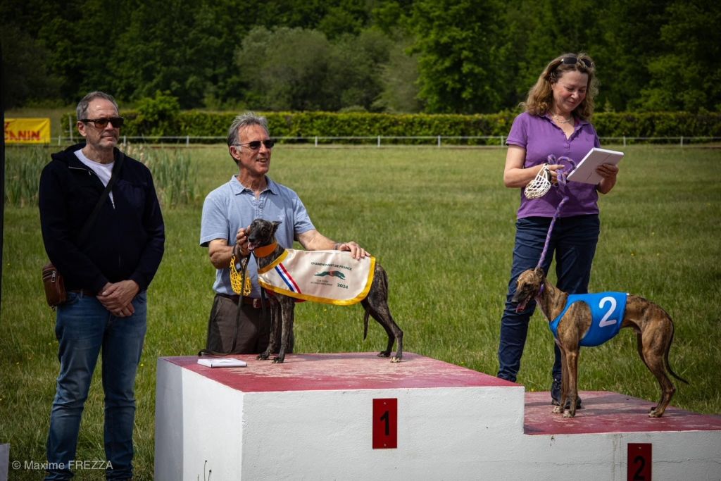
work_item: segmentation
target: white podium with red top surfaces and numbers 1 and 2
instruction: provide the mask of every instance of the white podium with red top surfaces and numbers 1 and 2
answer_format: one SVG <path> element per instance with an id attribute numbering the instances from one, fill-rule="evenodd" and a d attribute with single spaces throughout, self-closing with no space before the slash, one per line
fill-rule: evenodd
<path id="1" fill-rule="evenodd" d="M 232 357 L 247 366 L 158 359 L 156 480 L 721 476 L 719 416 L 582 392 L 565 419 L 548 392 L 414 353 Z"/>

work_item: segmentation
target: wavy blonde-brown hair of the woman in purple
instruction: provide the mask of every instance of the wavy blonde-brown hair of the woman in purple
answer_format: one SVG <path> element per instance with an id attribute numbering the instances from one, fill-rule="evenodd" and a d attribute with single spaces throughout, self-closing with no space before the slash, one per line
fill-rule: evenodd
<path id="1" fill-rule="evenodd" d="M 521 107 L 533 115 L 544 115 L 553 105 L 552 85 L 559 81 L 563 74 L 570 71 L 588 75 L 585 99 L 572 113 L 583 120 L 590 120 L 593 115 L 594 100 L 598 94 L 598 81 L 596 80 L 596 65 L 583 52 L 564 53 L 562 56 L 554 58 L 541 72 L 536 84 L 528 90 L 526 102 L 521 103 Z"/>

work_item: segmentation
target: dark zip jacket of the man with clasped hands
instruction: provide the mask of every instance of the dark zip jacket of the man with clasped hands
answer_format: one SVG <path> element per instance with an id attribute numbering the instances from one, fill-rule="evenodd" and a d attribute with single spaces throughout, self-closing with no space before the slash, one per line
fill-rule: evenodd
<path id="1" fill-rule="evenodd" d="M 40 175 L 40 226 L 45 252 L 69 290 L 99 293 L 108 282 L 148 288 L 163 257 L 165 227 L 150 170 L 125 156 L 118 181 L 82 244 L 77 237 L 105 187 L 75 156 L 85 144 L 52 155 Z M 115 149 L 115 166 L 118 154 Z M 115 167 L 113 167 L 115 169 Z"/>

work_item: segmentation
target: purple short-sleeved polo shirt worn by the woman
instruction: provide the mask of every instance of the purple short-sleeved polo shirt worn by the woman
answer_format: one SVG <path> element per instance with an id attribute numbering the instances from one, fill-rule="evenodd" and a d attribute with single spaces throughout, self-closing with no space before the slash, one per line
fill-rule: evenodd
<path id="1" fill-rule="evenodd" d="M 505 144 L 526 149 L 526 162 L 523 162 L 523 167 L 544 164 L 548 162 L 550 154 L 556 158 L 566 156 L 578 164 L 590 149 L 601 146 L 596 129 L 587 120 L 578 121 L 571 138 L 566 138 L 566 134 L 553 122 L 550 115 L 531 115 L 528 112 L 523 112 L 513 120 Z M 595 185 L 568 182 L 566 192 L 568 200 L 559 216 L 598 213 L 598 193 Z M 527 199 L 521 189 L 518 219 L 533 216 L 553 217 L 562 198 L 557 187 L 551 187 L 546 195 L 532 200 Z"/>

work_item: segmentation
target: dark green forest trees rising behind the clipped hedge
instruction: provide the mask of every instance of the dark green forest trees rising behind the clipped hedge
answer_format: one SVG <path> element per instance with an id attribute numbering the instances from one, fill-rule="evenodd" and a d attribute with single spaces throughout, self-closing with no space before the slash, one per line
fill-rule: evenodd
<path id="1" fill-rule="evenodd" d="M 597 111 L 721 110 L 715 0 L 4 0 L 6 107 L 490 113 L 584 51 Z M 127 106 L 127 105 L 126 105 Z"/>

